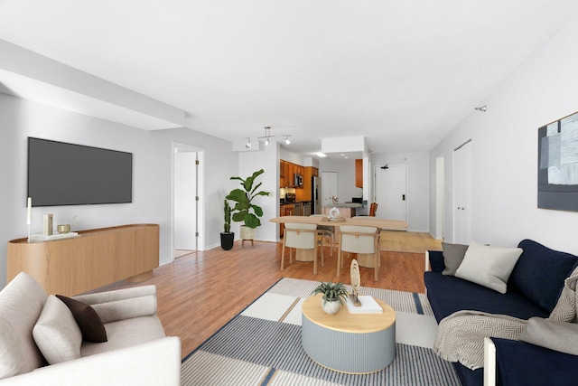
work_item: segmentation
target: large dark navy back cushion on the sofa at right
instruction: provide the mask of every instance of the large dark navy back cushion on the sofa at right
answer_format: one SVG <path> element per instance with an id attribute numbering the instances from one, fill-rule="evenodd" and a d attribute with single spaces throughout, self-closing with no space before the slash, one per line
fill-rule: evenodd
<path id="1" fill-rule="evenodd" d="M 533 240 L 522 240 L 517 246 L 524 251 L 509 277 L 508 287 L 552 312 L 564 287 L 564 279 L 572 272 L 578 257 L 549 249 Z"/>

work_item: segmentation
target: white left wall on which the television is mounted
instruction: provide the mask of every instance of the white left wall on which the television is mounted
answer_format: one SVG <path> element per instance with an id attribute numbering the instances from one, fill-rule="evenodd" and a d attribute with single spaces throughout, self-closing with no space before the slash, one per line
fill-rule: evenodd
<path id="1" fill-rule="evenodd" d="M 54 223 L 70 223 L 73 231 L 153 222 L 161 228 L 161 263 L 172 261 L 172 141 L 206 149 L 204 194 L 205 245 L 219 246 L 222 202 L 233 186 L 237 155 L 228 141 L 187 128 L 144 131 L 98 118 L 47 107 L 0 94 L 0 244 L 26 236 L 26 137 L 41 137 L 79 145 L 133 153 L 133 202 L 33 208 L 33 233 L 42 231 L 42 214 Z M 0 286 L 6 277 L 6 249 L 0 249 Z"/>

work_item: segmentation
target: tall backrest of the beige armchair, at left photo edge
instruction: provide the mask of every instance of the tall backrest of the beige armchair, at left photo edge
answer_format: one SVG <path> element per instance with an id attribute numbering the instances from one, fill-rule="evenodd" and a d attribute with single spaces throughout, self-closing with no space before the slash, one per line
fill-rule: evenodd
<path id="1" fill-rule="evenodd" d="M 32 372 L 45 362 L 33 339 L 44 302 L 46 292 L 24 272 L 0 291 L 0 379 Z"/>

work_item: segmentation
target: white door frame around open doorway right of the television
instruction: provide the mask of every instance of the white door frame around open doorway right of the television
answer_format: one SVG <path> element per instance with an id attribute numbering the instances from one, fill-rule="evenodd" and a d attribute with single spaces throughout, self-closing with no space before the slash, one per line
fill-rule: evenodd
<path id="1" fill-rule="evenodd" d="M 191 146 L 187 144 L 182 144 L 178 142 L 172 142 L 172 194 L 171 194 L 171 252 L 174 250 L 174 195 L 175 195 L 175 179 L 174 179 L 174 167 L 176 161 L 176 154 L 180 152 L 196 152 L 198 154 L 199 167 L 197 170 L 197 194 L 199 200 L 197 201 L 197 232 L 199 237 L 197 238 L 197 250 L 205 250 L 205 150 Z M 172 256 L 172 260 L 174 256 Z"/>

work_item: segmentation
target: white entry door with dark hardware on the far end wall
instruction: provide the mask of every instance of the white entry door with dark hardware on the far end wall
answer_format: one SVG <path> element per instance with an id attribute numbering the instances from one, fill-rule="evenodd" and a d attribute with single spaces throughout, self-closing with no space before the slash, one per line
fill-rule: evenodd
<path id="1" fill-rule="evenodd" d="M 375 167 L 376 217 L 407 221 L 407 165 Z"/>

